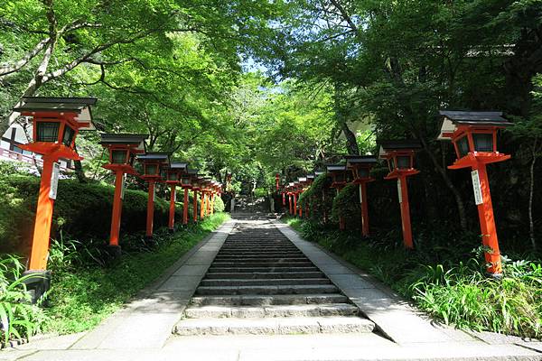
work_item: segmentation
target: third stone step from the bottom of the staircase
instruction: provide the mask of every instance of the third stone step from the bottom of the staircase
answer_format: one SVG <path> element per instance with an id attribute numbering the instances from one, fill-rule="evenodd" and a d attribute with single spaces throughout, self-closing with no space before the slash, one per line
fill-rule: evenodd
<path id="1" fill-rule="evenodd" d="M 193 306 L 269 306 L 322 303 L 348 303 L 348 297 L 340 293 L 328 294 L 281 294 L 281 295 L 227 295 L 195 296 Z"/>

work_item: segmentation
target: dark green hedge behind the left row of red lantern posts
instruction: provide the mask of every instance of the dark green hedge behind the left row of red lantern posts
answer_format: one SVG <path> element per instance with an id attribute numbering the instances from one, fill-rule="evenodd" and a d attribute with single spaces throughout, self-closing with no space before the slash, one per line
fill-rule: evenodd
<path id="1" fill-rule="evenodd" d="M 32 175 L 11 175 L 3 180 L 5 199 L 14 199 L 0 205 L 0 253 L 15 251 L 26 253 L 33 232 L 40 179 Z M 5 190 L 9 194 L 6 195 Z M 11 196 L 10 196 L 11 194 Z M 111 222 L 114 188 L 100 183 L 79 183 L 77 180 L 60 180 L 55 200 L 51 237 L 60 232 L 72 238 L 91 240 L 107 239 Z M 169 201 L 156 195 L 154 202 L 154 227 L 167 225 Z M 147 193 L 143 190 L 126 190 L 121 218 L 121 237 L 145 229 Z M 176 218 L 182 218 L 182 203 L 176 208 Z M 122 240 L 121 240 L 122 242 Z"/>

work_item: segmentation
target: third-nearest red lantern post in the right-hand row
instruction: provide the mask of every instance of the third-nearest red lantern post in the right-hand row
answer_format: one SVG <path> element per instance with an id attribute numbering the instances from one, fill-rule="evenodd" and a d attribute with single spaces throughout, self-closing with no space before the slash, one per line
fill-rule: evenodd
<path id="1" fill-rule="evenodd" d="M 377 163 L 372 155 L 346 155 L 346 166 L 354 175 L 354 183 L 360 185 L 361 234 L 369 236 L 369 207 L 367 203 L 367 183 L 374 181 L 369 176 L 371 168 Z"/>

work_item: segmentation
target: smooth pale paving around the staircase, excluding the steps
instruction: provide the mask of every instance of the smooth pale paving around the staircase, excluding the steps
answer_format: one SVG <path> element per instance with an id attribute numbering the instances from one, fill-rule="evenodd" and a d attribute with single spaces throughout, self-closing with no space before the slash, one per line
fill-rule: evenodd
<path id="1" fill-rule="evenodd" d="M 276 227 L 280 230 L 341 294 L 348 297 L 349 302 L 360 309 L 361 316 L 376 325 L 375 331 L 307 335 L 173 335 L 186 308 L 191 303 L 190 307 L 193 307 L 194 292 L 199 285 L 206 287 L 201 280 L 212 273 L 210 265 L 215 258 L 220 258 L 217 255 L 236 224 L 245 229 Z M 209 281 L 209 277 L 205 279 Z M 435 325 L 369 275 L 328 254 L 318 245 L 304 241 L 284 224 L 240 218 L 213 232 L 135 301 L 97 329 L 78 335 L 33 340 L 17 350 L 0 352 L 0 360 L 542 360 L 539 343 L 495 338 L 493 334 L 477 336 Z"/>

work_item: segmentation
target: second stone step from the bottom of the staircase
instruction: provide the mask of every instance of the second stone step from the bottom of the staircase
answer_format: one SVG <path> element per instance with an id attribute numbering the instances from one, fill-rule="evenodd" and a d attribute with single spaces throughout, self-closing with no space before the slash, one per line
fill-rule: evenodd
<path id="1" fill-rule="evenodd" d="M 286 306 L 203 306 L 184 310 L 186 319 L 261 319 L 271 317 L 320 317 L 320 316 L 358 316 L 360 310 L 348 303 L 307 304 Z"/>

